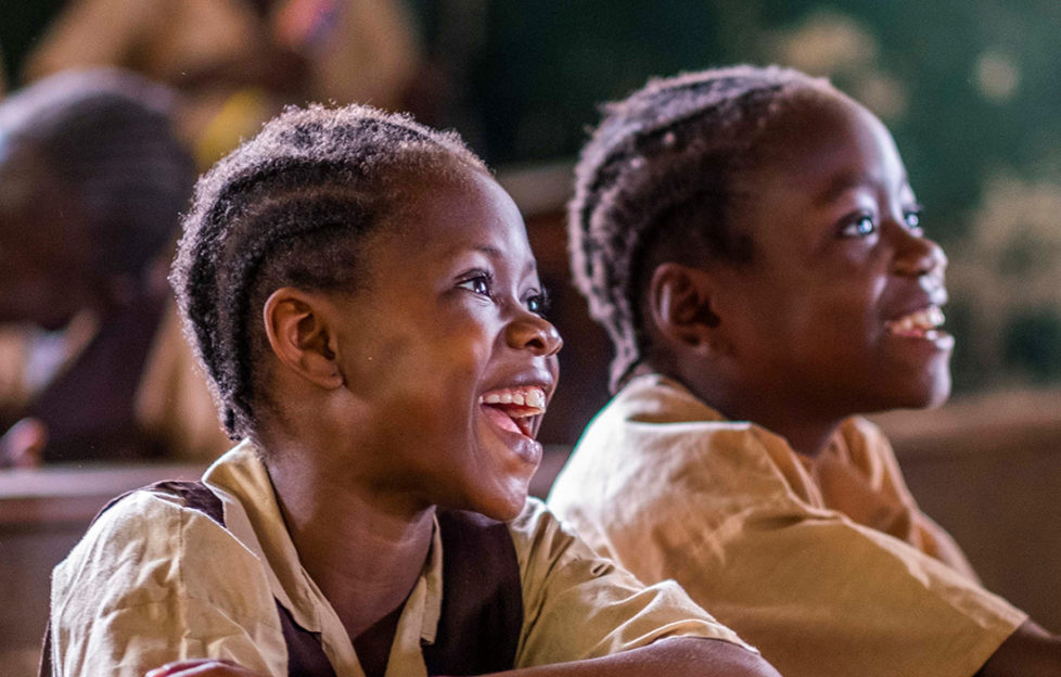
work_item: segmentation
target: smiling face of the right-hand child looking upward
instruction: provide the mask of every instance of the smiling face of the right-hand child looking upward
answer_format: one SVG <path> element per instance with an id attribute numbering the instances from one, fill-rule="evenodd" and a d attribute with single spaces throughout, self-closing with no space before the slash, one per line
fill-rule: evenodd
<path id="1" fill-rule="evenodd" d="M 724 267 L 745 397 L 808 421 L 941 404 L 946 258 L 891 135 L 834 95 L 783 115 L 733 209 L 753 260 Z"/>

